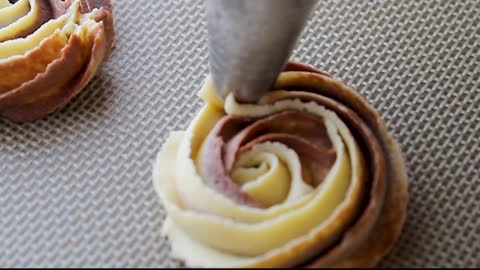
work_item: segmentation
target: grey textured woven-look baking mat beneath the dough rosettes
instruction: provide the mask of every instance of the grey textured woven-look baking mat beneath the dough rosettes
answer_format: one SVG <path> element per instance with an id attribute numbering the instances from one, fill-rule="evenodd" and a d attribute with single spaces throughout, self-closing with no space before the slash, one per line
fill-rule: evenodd
<path id="1" fill-rule="evenodd" d="M 175 267 L 152 161 L 201 106 L 203 1 L 127 1 L 101 74 L 66 108 L 0 120 L 0 265 Z M 382 266 L 480 267 L 480 1 L 321 1 L 294 57 L 355 86 L 411 181 Z"/>

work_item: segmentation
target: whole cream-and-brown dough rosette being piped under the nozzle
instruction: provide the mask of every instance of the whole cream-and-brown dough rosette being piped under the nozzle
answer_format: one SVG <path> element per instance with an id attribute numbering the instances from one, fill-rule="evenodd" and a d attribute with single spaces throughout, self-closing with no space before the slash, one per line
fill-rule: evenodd
<path id="1" fill-rule="evenodd" d="M 406 217 L 399 147 L 367 102 L 289 63 L 257 104 L 216 97 L 154 166 L 172 255 L 191 267 L 371 267 Z"/>

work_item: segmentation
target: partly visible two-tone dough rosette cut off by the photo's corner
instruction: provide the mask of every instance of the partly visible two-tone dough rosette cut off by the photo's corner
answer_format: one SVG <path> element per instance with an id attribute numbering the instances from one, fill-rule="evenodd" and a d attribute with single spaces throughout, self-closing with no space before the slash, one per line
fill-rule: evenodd
<path id="1" fill-rule="evenodd" d="M 110 0 L 0 0 L 0 115 L 32 121 L 64 106 L 113 43 Z"/>

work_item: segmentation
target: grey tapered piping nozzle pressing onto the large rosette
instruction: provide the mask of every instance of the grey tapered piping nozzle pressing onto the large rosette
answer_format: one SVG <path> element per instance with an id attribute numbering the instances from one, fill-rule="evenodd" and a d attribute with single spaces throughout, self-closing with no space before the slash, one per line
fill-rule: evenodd
<path id="1" fill-rule="evenodd" d="M 207 0 L 210 72 L 217 94 L 255 103 L 290 58 L 317 0 Z"/>

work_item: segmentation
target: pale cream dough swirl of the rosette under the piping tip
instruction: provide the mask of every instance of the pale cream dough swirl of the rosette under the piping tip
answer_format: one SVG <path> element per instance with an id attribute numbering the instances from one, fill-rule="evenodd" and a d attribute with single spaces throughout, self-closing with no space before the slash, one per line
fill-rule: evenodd
<path id="1" fill-rule="evenodd" d="M 229 96 L 220 106 L 209 79 L 200 95 L 205 107 L 185 132 L 171 134 L 155 162 L 154 185 L 168 213 L 164 232 L 173 255 L 188 266 L 284 266 L 337 240 L 357 213 L 364 174 L 362 155 L 342 120 L 316 103 L 299 100 L 243 105 Z M 286 109 L 323 119 L 337 152 L 318 187 L 302 180 L 297 154 L 275 142 L 241 155 L 233 172 L 243 190 L 269 207 L 238 205 L 204 183 L 198 156 L 221 117 L 266 116 Z M 252 164 L 263 167 L 252 171 Z"/>

